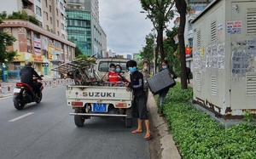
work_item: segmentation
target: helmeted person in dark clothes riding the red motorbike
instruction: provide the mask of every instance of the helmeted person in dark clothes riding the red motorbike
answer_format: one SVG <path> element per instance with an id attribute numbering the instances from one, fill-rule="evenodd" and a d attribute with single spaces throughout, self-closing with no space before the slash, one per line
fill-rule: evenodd
<path id="1" fill-rule="evenodd" d="M 25 66 L 20 70 L 20 81 L 30 85 L 35 94 L 35 98 L 38 98 L 38 94 L 40 94 L 40 84 L 37 82 L 33 82 L 33 76 L 38 77 L 38 79 L 43 80 L 42 77 L 38 75 L 38 73 L 32 68 L 32 62 L 26 61 Z"/>

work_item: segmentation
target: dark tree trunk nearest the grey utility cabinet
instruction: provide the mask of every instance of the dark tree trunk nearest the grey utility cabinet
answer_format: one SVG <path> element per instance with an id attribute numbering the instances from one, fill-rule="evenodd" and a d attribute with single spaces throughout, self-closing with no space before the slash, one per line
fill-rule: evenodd
<path id="1" fill-rule="evenodd" d="M 186 72 L 186 54 L 184 43 L 184 29 L 186 24 L 187 3 L 185 0 L 175 0 L 177 11 L 180 15 L 180 25 L 178 27 L 178 44 L 180 48 L 180 64 L 181 64 L 181 88 L 187 89 L 187 72 Z"/>

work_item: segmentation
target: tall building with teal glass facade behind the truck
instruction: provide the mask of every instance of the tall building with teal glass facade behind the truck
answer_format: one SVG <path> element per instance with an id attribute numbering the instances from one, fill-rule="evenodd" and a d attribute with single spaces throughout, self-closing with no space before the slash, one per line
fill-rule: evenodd
<path id="1" fill-rule="evenodd" d="M 107 36 L 99 23 L 98 0 L 67 0 L 68 39 L 87 55 L 102 57 L 107 51 Z"/>

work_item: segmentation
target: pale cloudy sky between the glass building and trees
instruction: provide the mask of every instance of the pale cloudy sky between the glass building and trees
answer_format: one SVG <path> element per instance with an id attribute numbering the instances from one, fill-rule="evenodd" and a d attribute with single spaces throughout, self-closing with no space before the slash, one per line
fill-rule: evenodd
<path id="1" fill-rule="evenodd" d="M 153 24 L 145 19 L 139 0 L 99 0 L 100 24 L 107 34 L 107 49 L 115 54 L 139 53 Z"/>

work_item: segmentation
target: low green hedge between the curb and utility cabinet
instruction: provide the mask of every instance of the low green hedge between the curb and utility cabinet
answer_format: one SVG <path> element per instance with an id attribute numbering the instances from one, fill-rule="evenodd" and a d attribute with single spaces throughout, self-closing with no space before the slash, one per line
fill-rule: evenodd
<path id="1" fill-rule="evenodd" d="M 189 105 L 193 89 L 170 88 L 162 109 L 184 159 L 256 158 L 256 126 L 242 123 L 224 129 L 206 113 Z"/>

